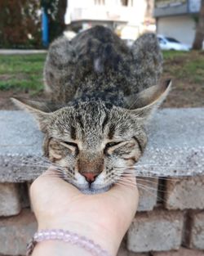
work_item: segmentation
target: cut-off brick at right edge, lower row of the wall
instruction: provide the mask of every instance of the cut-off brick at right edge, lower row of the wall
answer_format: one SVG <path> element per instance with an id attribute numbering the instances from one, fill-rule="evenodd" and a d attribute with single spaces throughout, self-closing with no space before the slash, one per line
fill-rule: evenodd
<path id="1" fill-rule="evenodd" d="M 188 247 L 204 249 L 204 211 L 191 214 Z"/>

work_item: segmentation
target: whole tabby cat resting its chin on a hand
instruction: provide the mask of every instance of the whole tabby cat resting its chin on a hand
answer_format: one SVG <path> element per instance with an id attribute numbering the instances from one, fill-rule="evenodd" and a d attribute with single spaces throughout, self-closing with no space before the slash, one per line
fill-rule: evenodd
<path id="1" fill-rule="evenodd" d="M 71 42 L 57 38 L 44 67 L 50 102 L 13 99 L 45 133 L 44 155 L 81 191 L 107 191 L 147 144 L 145 124 L 166 98 L 159 84 L 162 53 L 155 34 L 127 47 L 111 29 L 95 26 Z"/>

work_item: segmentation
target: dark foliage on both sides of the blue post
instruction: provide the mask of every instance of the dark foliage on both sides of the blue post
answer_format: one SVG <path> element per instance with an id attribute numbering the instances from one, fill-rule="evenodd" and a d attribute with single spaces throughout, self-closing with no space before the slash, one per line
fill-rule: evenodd
<path id="1" fill-rule="evenodd" d="M 42 48 L 41 8 L 47 11 L 50 42 L 64 31 L 67 0 L 0 0 L 0 47 Z"/>

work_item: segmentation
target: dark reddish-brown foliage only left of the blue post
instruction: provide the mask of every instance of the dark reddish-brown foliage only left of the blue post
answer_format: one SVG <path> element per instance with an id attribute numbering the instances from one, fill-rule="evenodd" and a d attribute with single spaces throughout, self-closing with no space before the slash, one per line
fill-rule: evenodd
<path id="1" fill-rule="evenodd" d="M 38 0 L 0 1 L 0 47 L 41 47 Z"/>

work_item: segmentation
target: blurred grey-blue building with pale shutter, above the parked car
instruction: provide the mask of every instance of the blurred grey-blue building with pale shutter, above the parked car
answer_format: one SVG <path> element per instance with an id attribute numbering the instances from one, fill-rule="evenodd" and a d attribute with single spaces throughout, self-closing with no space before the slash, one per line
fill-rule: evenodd
<path id="1" fill-rule="evenodd" d="M 155 0 L 157 34 L 192 45 L 201 0 Z"/>

